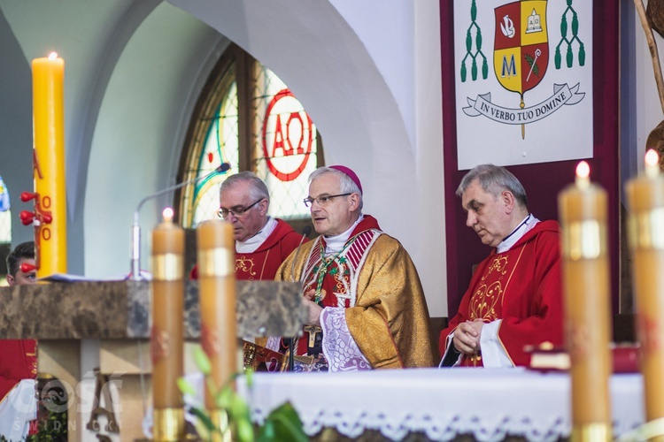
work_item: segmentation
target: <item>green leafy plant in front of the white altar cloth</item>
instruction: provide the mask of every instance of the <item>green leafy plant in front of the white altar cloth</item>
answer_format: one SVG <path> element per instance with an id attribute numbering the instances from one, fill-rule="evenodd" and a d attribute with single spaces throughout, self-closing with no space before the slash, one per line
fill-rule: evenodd
<path id="1" fill-rule="evenodd" d="M 219 426 L 212 422 L 212 418 L 204 408 L 191 407 L 190 411 L 197 416 L 196 425 L 198 436 L 203 440 L 210 440 L 212 435 L 217 434 L 240 442 L 271 442 L 279 440 L 292 440 L 295 442 L 306 442 L 309 440 L 302 428 L 302 421 L 297 415 L 297 410 L 290 402 L 283 403 L 274 408 L 266 416 L 265 423 L 256 425 L 251 423 L 251 414 L 247 402 L 235 392 L 233 385 L 239 376 L 235 374 L 225 385 L 219 387 L 214 385 L 210 376 L 212 370 L 210 360 L 201 347 L 197 347 L 194 359 L 198 370 L 205 376 L 205 387 L 212 393 L 214 404 L 224 419 Z M 253 373 L 251 370 L 244 373 L 247 386 L 253 388 Z M 189 382 L 180 378 L 178 387 L 183 394 L 196 395 L 196 388 Z"/>

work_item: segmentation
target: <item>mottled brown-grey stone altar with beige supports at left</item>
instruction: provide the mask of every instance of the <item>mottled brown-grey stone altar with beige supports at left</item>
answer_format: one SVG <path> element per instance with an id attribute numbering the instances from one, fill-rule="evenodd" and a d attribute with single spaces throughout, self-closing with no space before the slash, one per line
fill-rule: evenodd
<path id="1" fill-rule="evenodd" d="M 238 338 L 297 336 L 307 319 L 299 283 L 236 284 Z M 197 281 L 186 285 L 184 326 L 185 373 L 192 373 Z M 0 339 L 38 339 L 39 372 L 69 385 L 69 441 L 143 438 L 144 410 L 151 407 L 150 328 L 147 281 L 0 287 Z"/>

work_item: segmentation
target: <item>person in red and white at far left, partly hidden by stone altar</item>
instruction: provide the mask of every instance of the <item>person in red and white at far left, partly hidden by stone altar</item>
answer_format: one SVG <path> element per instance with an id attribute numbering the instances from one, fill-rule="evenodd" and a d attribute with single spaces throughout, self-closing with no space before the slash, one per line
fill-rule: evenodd
<path id="1" fill-rule="evenodd" d="M 33 269 L 23 271 L 22 264 Z M 19 244 L 7 256 L 7 283 L 35 284 L 34 266 L 35 242 Z M 7 440 L 23 440 L 37 417 L 36 377 L 35 339 L 0 339 L 0 435 Z"/>

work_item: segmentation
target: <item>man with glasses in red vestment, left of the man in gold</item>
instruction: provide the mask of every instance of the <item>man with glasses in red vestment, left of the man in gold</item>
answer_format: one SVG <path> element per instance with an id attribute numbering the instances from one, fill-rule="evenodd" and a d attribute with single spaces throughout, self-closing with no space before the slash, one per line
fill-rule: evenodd
<path id="1" fill-rule="evenodd" d="M 267 216 L 270 194 L 251 171 L 231 175 L 220 187 L 219 216 L 233 225 L 235 278 L 272 280 L 302 240 L 282 219 Z M 191 272 L 197 278 L 197 268 Z"/>

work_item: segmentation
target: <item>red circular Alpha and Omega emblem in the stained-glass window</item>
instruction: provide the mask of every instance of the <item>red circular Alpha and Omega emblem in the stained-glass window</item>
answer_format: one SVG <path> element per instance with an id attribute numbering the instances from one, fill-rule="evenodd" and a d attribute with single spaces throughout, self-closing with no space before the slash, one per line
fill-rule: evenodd
<path id="1" fill-rule="evenodd" d="M 296 179 L 309 161 L 313 123 L 289 89 L 282 89 L 267 105 L 262 129 L 267 168 L 282 181 Z"/>

